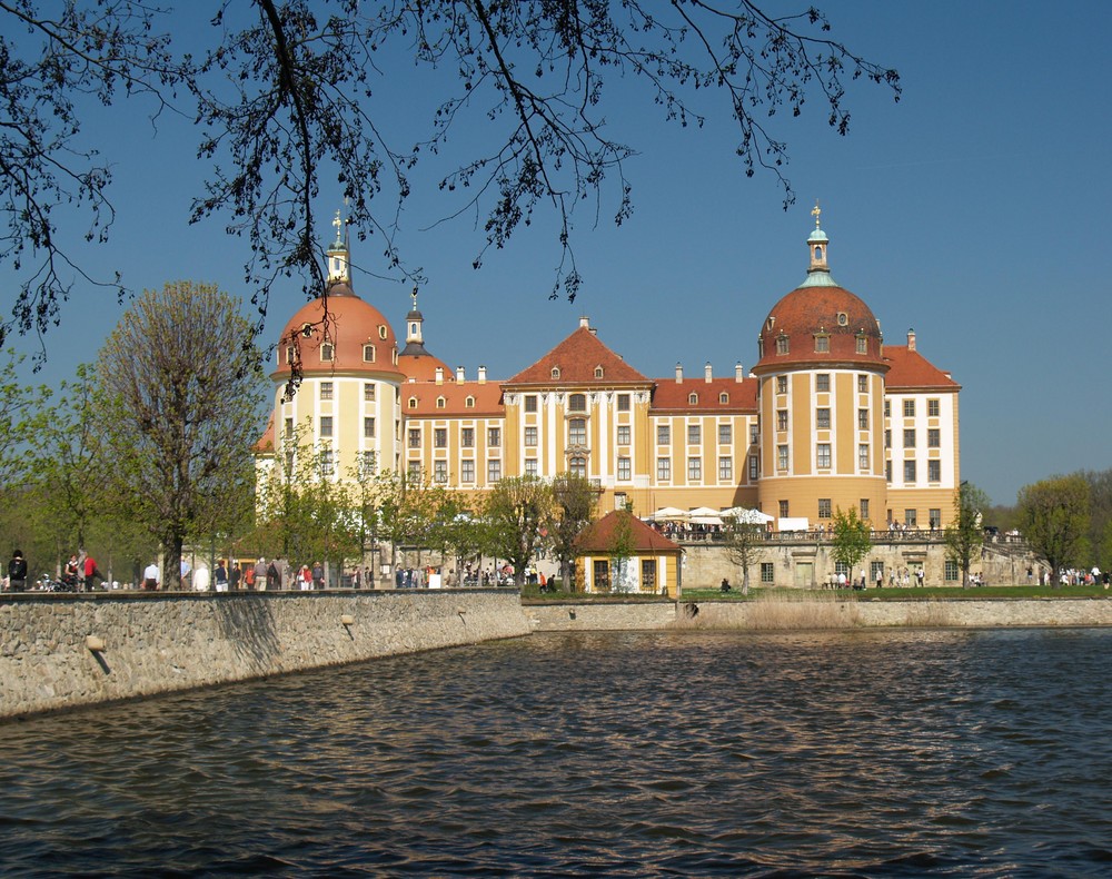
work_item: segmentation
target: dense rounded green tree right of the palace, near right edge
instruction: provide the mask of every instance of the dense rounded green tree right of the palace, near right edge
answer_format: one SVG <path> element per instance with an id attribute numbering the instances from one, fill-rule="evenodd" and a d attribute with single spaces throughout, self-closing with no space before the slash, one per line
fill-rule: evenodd
<path id="1" fill-rule="evenodd" d="M 1089 482 L 1074 474 L 1024 485 L 1016 506 L 1027 545 L 1058 583 L 1061 569 L 1082 563 L 1091 512 Z"/>

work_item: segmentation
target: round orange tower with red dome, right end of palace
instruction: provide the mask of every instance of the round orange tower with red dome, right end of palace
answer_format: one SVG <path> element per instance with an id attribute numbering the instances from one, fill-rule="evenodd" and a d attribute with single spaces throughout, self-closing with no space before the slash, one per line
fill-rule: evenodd
<path id="1" fill-rule="evenodd" d="M 773 306 L 757 335 L 761 510 L 830 524 L 834 511 L 884 516 L 881 327 L 830 273 L 830 239 L 812 211 L 806 279 Z"/>

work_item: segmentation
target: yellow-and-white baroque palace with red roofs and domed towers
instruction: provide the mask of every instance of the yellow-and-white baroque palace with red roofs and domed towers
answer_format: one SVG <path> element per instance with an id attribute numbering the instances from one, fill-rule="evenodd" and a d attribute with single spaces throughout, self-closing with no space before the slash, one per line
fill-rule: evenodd
<path id="1" fill-rule="evenodd" d="M 814 530 L 853 507 L 875 529 L 944 526 L 960 484 L 961 388 L 913 332 L 884 344 L 868 306 L 831 276 L 814 215 L 806 278 L 758 328 L 748 375 L 738 365 L 715 376 L 707 364 L 649 378 L 584 317 L 500 381 L 429 353 L 416 294 L 399 344 L 353 289 L 337 218 L 327 312 L 325 298 L 302 306 L 276 349 L 260 472 L 301 431 L 335 480 L 374 461 L 481 495 L 505 476 L 570 472 L 597 485 L 602 513 L 745 506 L 774 516 L 773 529 Z M 287 399 L 294 364 L 302 384 Z"/>

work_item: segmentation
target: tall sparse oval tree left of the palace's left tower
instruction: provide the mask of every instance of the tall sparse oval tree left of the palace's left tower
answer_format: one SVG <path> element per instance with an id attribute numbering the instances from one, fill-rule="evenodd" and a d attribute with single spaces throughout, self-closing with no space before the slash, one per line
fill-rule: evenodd
<path id="1" fill-rule="evenodd" d="M 265 382 L 239 303 L 188 282 L 148 290 L 100 350 L 101 427 L 113 487 L 177 571 L 187 537 L 221 529 L 254 486 Z M 170 577 L 167 577 L 170 582 Z"/>

